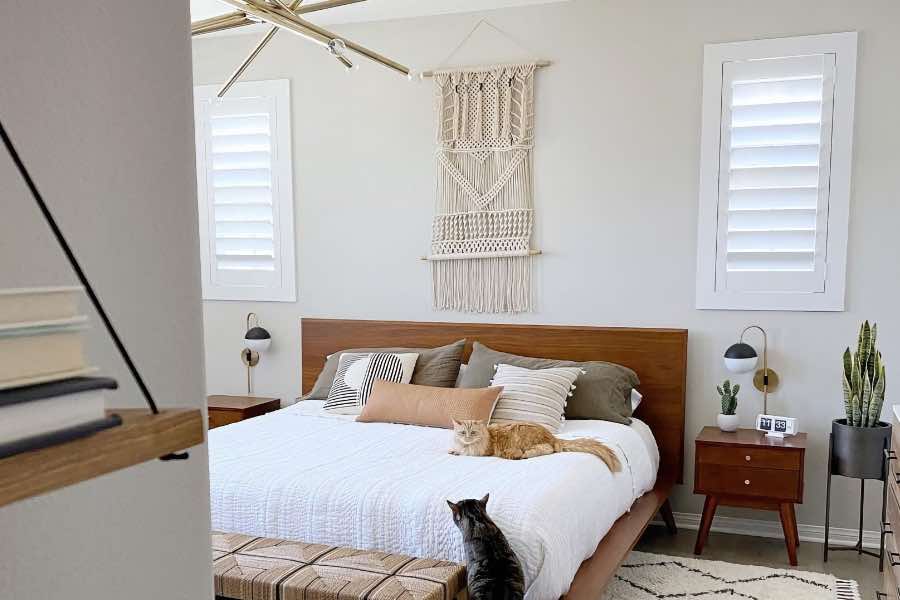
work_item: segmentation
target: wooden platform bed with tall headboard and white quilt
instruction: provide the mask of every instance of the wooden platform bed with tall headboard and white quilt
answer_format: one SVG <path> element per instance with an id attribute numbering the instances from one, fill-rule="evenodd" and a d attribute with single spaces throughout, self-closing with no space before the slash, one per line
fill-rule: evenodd
<path id="1" fill-rule="evenodd" d="M 560 433 L 604 441 L 625 467 L 613 475 L 582 454 L 454 457 L 447 430 L 356 423 L 306 401 L 210 432 L 215 529 L 463 561 L 444 500 L 490 493 L 489 512 L 523 562 L 527 597 L 577 600 L 600 597 L 658 511 L 671 519 L 666 501 L 683 466 L 683 330 L 304 319 L 302 335 L 304 390 L 336 350 L 461 337 L 629 366 L 644 396 L 631 426 L 568 421 Z"/>

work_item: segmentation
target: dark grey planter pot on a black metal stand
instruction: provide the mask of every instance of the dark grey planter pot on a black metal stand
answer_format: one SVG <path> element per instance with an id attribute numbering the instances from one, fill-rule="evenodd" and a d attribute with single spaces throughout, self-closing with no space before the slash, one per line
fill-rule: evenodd
<path id="1" fill-rule="evenodd" d="M 891 426 L 853 427 L 847 419 L 831 422 L 831 472 L 856 479 L 884 477 L 884 451 L 891 446 Z"/>

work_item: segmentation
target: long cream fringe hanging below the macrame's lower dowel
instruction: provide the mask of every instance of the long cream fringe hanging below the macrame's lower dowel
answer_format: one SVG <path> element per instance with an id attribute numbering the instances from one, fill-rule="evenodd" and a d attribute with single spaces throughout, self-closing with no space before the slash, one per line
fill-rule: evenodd
<path id="1" fill-rule="evenodd" d="M 533 310 L 531 257 L 473 258 L 431 263 L 434 307 L 476 313 Z"/>

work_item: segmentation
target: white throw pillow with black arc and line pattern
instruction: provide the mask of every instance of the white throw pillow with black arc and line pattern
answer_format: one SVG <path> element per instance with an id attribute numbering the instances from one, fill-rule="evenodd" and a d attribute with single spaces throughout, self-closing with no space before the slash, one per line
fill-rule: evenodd
<path id="1" fill-rule="evenodd" d="M 376 381 L 409 383 L 418 358 L 415 353 L 345 352 L 338 362 L 325 410 L 341 415 L 360 414 Z"/>

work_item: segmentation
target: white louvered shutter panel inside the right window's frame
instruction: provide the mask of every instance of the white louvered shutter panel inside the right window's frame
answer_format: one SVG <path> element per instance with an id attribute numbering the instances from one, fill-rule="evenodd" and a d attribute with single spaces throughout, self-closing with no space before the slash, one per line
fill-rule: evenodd
<path id="1" fill-rule="evenodd" d="M 824 291 L 834 56 L 728 62 L 716 287 Z"/>

